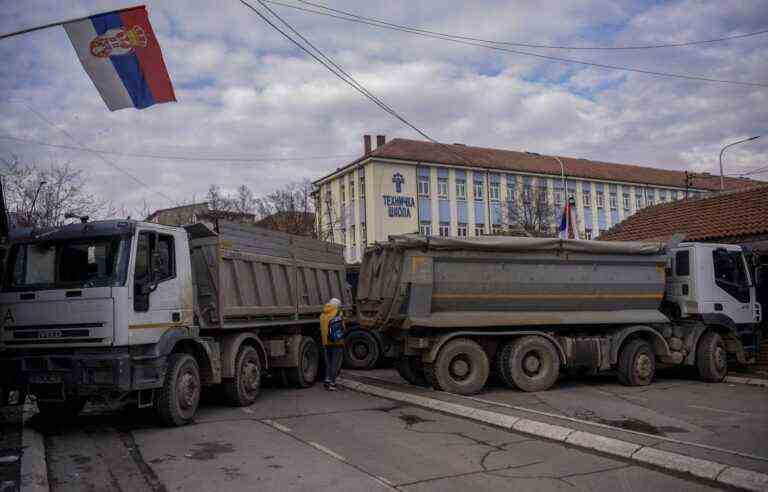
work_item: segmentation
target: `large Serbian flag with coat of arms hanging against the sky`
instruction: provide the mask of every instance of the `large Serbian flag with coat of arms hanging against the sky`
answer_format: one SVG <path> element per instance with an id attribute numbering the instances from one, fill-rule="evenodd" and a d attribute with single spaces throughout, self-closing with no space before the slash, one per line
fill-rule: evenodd
<path id="1" fill-rule="evenodd" d="M 64 30 L 110 111 L 176 100 L 144 6 L 68 22 Z"/>

